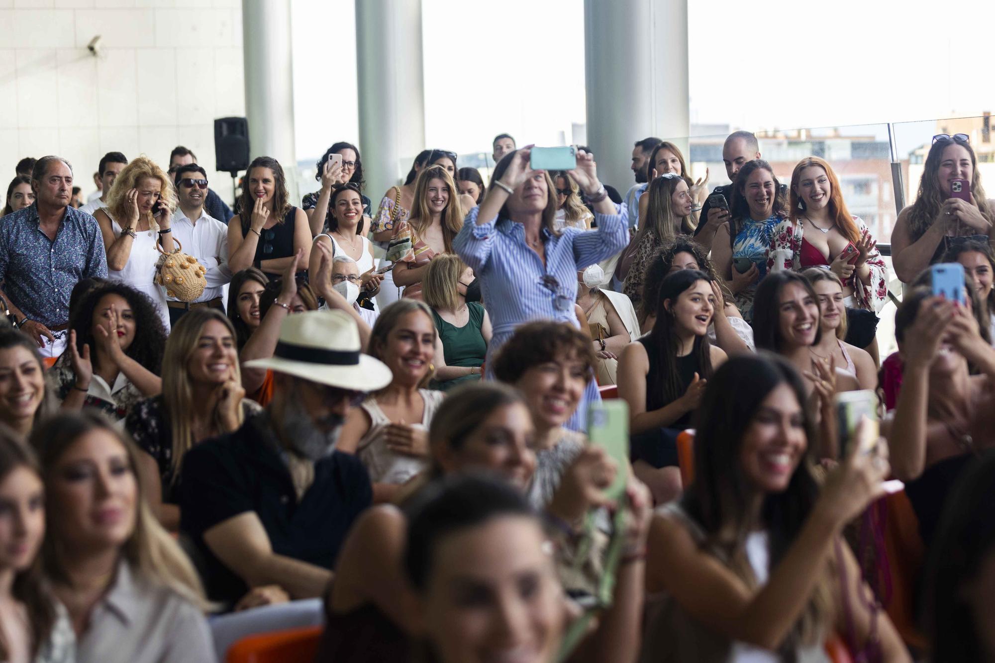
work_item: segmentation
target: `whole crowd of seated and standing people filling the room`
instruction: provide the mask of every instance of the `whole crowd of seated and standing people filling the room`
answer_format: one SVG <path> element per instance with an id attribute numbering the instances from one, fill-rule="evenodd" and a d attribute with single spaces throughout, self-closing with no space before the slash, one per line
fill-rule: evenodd
<path id="1" fill-rule="evenodd" d="M 995 660 L 969 137 L 898 216 L 888 357 L 882 238 L 826 160 L 782 182 L 736 131 L 711 186 L 648 137 L 623 196 L 585 147 L 493 147 L 487 180 L 424 150 L 376 206 L 353 143 L 299 206 L 258 156 L 235 212 L 183 146 L 106 153 L 87 204 L 65 158 L 18 163 L 0 660 L 214 661 L 215 620 L 308 599 L 318 661 Z M 918 552 L 883 543 L 901 505 Z"/>

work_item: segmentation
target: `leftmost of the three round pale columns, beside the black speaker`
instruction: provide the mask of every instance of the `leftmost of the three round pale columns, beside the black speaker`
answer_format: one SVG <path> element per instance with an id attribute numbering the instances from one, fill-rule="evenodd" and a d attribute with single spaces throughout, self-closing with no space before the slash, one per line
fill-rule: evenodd
<path id="1" fill-rule="evenodd" d="M 280 161 L 291 201 L 299 203 L 291 0 L 242 0 L 242 43 L 250 155 Z"/>

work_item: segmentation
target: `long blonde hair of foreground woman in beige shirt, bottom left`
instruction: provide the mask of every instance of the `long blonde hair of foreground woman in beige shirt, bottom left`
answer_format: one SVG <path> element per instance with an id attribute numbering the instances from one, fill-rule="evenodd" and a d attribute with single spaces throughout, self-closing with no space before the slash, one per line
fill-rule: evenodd
<path id="1" fill-rule="evenodd" d="M 190 558 L 169 536 L 152 514 L 145 500 L 145 486 L 138 471 L 138 451 L 134 442 L 125 437 L 100 412 L 57 414 L 37 428 L 31 436 L 31 444 L 38 451 L 42 474 L 48 489 L 46 510 L 48 528 L 42 545 L 42 562 L 49 577 L 57 582 L 69 584 L 70 578 L 62 566 L 63 558 L 70 553 L 60 539 L 59 528 L 53 527 L 52 515 L 59 511 L 51 500 L 53 474 L 59 459 L 81 437 L 95 430 L 113 436 L 127 455 L 128 469 L 134 475 L 136 486 L 134 530 L 121 546 L 121 557 L 128 562 L 135 573 L 154 584 L 166 587 L 182 598 L 192 602 L 201 610 L 212 609 L 204 597 L 204 588 Z"/>

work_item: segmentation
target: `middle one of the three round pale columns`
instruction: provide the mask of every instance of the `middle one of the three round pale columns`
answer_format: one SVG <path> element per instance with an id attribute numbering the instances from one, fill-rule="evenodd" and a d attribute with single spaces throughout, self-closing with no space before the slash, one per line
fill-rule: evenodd
<path id="1" fill-rule="evenodd" d="M 356 0 L 359 149 L 374 205 L 425 149 L 421 0 Z"/>

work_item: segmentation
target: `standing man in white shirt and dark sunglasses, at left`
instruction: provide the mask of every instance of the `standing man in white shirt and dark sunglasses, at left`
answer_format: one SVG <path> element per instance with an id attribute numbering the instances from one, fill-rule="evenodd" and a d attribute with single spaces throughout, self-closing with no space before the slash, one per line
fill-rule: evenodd
<path id="1" fill-rule="evenodd" d="M 207 269 L 207 287 L 195 301 L 167 298 L 169 322 L 176 322 L 190 309 L 210 307 L 224 311 L 224 286 L 232 280 L 228 269 L 228 226 L 204 211 L 207 199 L 207 172 L 196 163 L 176 168 L 173 175 L 179 206 L 173 214 L 173 239 L 183 253 L 193 256 Z"/>

